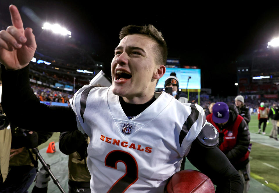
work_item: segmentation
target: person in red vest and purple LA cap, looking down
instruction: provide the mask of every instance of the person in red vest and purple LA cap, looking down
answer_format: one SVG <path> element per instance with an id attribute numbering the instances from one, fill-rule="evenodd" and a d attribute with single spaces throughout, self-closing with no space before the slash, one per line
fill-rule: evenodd
<path id="1" fill-rule="evenodd" d="M 212 107 L 212 113 L 206 117 L 219 132 L 219 149 L 227 156 L 244 182 L 244 191 L 250 184 L 249 144 L 250 133 L 246 121 L 234 108 L 229 109 L 223 102 Z"/>

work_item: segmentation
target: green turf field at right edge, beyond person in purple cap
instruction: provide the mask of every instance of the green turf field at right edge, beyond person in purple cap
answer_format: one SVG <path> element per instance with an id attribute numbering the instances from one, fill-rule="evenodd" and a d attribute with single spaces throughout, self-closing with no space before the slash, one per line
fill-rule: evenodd
<path id="1" fill-rule="evenodd" d="M 275 141 L 269 138 L 272 128 L 271 122 L 265 130 L 267 142 Z M 251 116 L 249 123 L 250 133 L 258 132 L 257 115 Z M 262 135 L 262 134 L 258 134 Z M 250 153 L 251 177 L 261 182 L 262 184 L 279 192 L 279 149 L 262 145 L 260 143 L 251 142 L 252 149 Z M 274 143 L 274 142 L 273 142 Z"/>

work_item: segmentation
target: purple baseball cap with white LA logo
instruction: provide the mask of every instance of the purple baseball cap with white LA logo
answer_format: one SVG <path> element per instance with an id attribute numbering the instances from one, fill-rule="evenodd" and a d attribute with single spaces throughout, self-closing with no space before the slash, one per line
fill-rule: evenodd
<path id="1" fill-rule="evenodd" d="M 229 120 L 229 107 L 226 103 L 217 102 L 212 107 L 212 119 L 215 123 L 225 123 Z"/>

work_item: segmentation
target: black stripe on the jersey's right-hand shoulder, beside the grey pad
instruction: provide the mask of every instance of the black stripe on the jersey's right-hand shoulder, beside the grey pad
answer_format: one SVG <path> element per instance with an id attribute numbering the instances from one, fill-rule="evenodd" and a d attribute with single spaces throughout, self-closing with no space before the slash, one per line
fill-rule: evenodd
<path id="1" fill-rule="evenodd" d="M 185 123 L 182 126 L 182 130 L 180 131 L 179 134 L 179 144 L 181 147 L 181 144 L 184 140 L 184 138 L 186 137 L 189 129 L 192 127 L 192 125 L 194 124 L 194 122 L 196 122 L 196 120 L 198 119 L 198 109 L 196 108 L 196 106 L 194 104 L 191 104 L 191 114 L 189 115 L 189 117 L 187 118 L 187 120 L 185 121 Z M 205 119 L 204 119 L 205 121 Z"/>

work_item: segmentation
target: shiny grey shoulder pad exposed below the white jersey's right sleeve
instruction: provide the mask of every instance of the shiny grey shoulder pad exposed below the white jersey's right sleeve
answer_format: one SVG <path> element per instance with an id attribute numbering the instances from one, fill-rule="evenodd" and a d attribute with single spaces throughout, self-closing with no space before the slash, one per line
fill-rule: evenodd
<path id="1" fill-rule="evenodd" d="M 210 122 L 206 121 L 196 140 L 206 148 L 214 148 L 219 144 L 219 132 Z"/>

